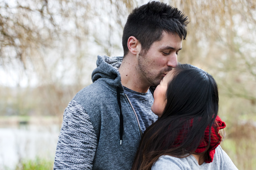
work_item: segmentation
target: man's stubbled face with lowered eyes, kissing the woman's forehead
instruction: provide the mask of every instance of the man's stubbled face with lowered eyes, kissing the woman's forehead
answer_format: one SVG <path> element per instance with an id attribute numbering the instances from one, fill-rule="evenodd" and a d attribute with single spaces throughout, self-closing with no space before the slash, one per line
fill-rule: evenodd
<path id="1" fill-rule="evenodd" d="M 145 83 L 157 86 L 177 66 L 177 55 L 181 48 L 182 39 L 178 34 L 163 31 L 162 39 L 152 43 L 146 54 L 140 50 L 138 66 Z"/>

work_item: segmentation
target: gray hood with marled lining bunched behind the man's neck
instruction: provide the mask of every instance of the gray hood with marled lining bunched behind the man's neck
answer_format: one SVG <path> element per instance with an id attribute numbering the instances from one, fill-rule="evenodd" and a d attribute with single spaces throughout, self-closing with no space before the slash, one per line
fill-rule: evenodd
<path id="1" fill-rule="evenodd" d="M 121 75 L 118 71 L 123 60 L 123 56 L 108 57 L 98 55 L 97 68 L 92 72 L 92 82 L 103 78 L 108 86 L 119 86 L 123 91 Z"/>

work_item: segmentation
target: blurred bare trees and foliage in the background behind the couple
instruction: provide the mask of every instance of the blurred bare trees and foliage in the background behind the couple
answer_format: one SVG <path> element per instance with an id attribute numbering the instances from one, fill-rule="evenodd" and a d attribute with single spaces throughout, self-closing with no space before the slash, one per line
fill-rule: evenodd
<path id="1" fill-rule="evenodd" d="M 145 0 L 0 2 L 0 116 L 62 115 L 92 83 L 97 55 L 123 55 L 122 31 Z M 219 86 L 222 143 L 238 169 L 256 168 L 256 1 L 169 0 L 188 15 L 178 61 Z"/>

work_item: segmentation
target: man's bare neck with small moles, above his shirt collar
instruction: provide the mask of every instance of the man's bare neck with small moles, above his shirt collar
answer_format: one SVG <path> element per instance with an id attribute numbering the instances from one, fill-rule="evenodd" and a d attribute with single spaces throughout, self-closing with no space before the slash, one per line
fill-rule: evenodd
<path id="1" fill-rule="evenodd" d="M 123 86 L 140 93 L 146 93 L 148 91 L 150 84 L 140 74 L 136 56 L 126 56 L 122 61 L 119 72 Z"/>

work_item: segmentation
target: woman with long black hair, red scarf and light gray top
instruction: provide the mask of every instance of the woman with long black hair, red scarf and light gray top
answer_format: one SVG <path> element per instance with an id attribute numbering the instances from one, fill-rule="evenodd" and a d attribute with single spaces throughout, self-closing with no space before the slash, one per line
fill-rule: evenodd
<path id="1" fill-rule="evenodd" d="M 159 116 L 143 134 L 132 170 L 237 169 L 219 146 L 218 87 L 207 72 L 179 64 L 154 92 Z"/>

